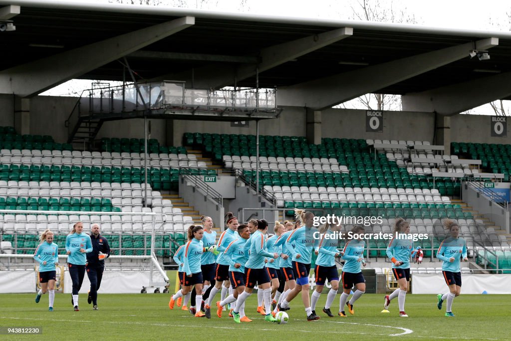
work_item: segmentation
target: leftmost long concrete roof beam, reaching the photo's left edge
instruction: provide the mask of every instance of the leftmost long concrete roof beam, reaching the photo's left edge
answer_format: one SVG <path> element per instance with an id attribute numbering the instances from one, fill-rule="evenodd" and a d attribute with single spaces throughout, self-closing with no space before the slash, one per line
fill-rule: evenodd
<path id="1" fill-rule="evenodd" d="M 182 17 L 0 72 L 0 93 L 32 97 L 195 24 Z"/>

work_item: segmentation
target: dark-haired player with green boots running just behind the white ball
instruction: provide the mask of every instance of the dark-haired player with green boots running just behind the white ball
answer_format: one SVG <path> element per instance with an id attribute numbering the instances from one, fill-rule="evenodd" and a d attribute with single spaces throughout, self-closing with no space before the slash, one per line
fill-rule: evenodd
<path id="1" fill-rule="evenodd" d="M 258 230 L 250 238 L 250 254 L 245 264 L 245 291 L 243 291 L 236 301 L 233 316 L 236 323 L 240 323 L 240 307 L 243 306 L 247 298 L 252 294 L 255 283 L 258 284 L 258 290 L 263 290 L 264 306 L 266 308 L 265 320 L 276 322 L 275 317 L 271 315 L 271 286 L 268 269 L 264 266 L 266 257 L 278 258 L 278 254 L 270 254 L 266 251 L 266 240 L 264 234 L 268 231 L 268 223 L 265 220 L 258 221 Z"/>

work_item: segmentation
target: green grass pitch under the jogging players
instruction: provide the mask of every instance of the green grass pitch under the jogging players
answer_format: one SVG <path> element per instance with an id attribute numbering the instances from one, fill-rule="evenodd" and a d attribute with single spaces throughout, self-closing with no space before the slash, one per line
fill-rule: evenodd
<path id="1" fill-rule="evenodd" d="M 329 318 L 321 312 L 327 295 L 321 295 L 316 312 L 319 321 L 307 322 L 299 297 L 288 311 L 290 322 L 276 325 L 265 322 L 255 312 L 257 295 L 246 303 L 245 311 L 252 323 L 237 325 L 224 315 L 222 319 L 212 311 L 212 319 L 193 317 L 177 306 L 168 307 L 169 294 L 101 294 L 98 311 L 92 311 L 86 295 L 80 295 L 80 311 L 73 311 L 71 295 L 57 293 L 55 311 L 48 311 L 48 295 L 34 302 L 34 294 L 1 294 L 2 327 L 42 327 L 42 335 L 2 335 L 2 339 L 453 339 L 504 340 L 511 339 L 510 295 L 461 295 L 454 300 L 456 317 L 445 317 L 445 309 L 436 308 L 435 295 L 406 297 L 406 312 L 410 317 L 399 317 L 397 299 L 390 305 L 390 313 L 381 313 L 382 294 L 364 294 L 355 304 L 355 314 Z M 217 297 L 219 298 L 219 294 Z M 339 307 L 337 296 L 332 312 Z"/>

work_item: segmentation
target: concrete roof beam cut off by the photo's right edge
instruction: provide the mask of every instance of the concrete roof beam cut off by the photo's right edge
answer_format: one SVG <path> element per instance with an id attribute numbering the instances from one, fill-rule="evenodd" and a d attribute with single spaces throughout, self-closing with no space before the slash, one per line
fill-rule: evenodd
<path id="1" fill-rule="evenodd" d="M 511 72 L 402 96 L 404 111 L 451 116 L 511 96 Z"/>

